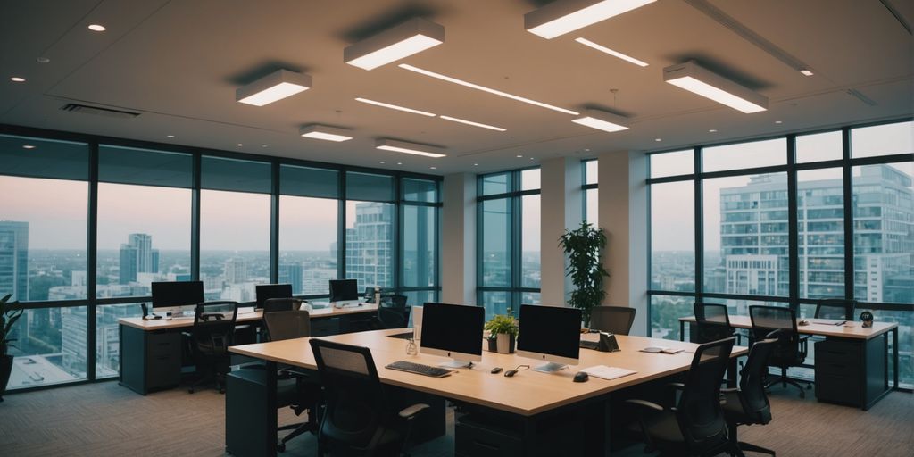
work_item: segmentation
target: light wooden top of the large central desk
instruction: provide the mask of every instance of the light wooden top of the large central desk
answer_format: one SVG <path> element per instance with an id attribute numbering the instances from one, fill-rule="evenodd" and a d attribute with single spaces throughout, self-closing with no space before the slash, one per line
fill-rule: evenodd
<path id="1" fill-rule="evenodd" d="M 613 390 L 685 371 L 692 363 L 693 352 L 697 347 L 695 344 L 679 341 L 617 335 L 621 352 L 605 353 L 581 348 L 580 365 L 556 373 L 540 373 L 529 369 L 518 372 L 515 377 L 505 377 L 503 373 L 493 375 L 490 373 L 493 367 L 503 367 L 508 370 L 519 365 L 537 367 L 542 362 L 515 354 L 496 354 L 484 351 L 483 361 L 474 363 L 472 369 L 459 369 L 449 377 L 436 378 L 385 368 L 386 365 L 397 360 L 409 360 L 430 366 L 436 366 L 449 360 L 445 357 L 421 353 L 417 356 L 407 356 L 406 340 L 387 336 L 396 335 L 405 330 L 359 332 L 328 336 L 324 339 L 348 345 L 370 347 L 377 365 L 377 374 L 385 384 L 420 390 L 444 398 L 462 400 L 524 416 L 532 416 L 583 399 L 598 397 Z M 586 337 L 596 338 L 596 335 L 586 335 Z M 317 369 L 308 340 L 309 338 L 298 338 L 255 345 L 237 345 L 230 347 L 229 351 L 296 367 Z M 638 352 L 638 349 L 649 345 L 682 347 L 685 351 L 692 352 L 681 352 L 674 355 Z M 734 347 L 733 356 L 746 353 L 745 347 Z M 572 382 L 571 378 L 580 369 L 595 365 L 624 367 L 635 370 L 637 373 L 611 381 L 590 377 L 587 382 Z"/>

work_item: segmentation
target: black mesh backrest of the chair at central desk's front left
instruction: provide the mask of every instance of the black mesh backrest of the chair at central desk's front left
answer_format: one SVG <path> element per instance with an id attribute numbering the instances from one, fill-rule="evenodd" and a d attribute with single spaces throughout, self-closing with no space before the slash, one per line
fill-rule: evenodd
<path id="1" fill-rule="evenodd" d="M 371 351 L 319 338 L 310 343 L 326 399 L 319 439 L 374 448 L 389 412 Z"/>

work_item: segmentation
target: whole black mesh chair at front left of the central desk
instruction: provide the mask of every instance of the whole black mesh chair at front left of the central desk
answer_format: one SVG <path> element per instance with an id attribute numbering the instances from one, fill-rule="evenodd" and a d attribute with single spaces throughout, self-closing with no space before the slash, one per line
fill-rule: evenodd
<path id="1" fill-rule="evenodd" d="M 310 340 L 324 386 L 326 407 L 318 431 L 317 454 L 365 452 L 397 455 L 405 451 L 413 419 L 429 405 L 399 412 L 388 404 L 371 350 L 318 338 Z"/>

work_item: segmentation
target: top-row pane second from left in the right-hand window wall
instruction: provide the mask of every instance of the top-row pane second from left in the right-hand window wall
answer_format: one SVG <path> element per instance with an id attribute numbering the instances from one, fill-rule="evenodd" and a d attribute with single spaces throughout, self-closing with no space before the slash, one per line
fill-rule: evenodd
<path id="1" fill-rule="evenodd" d="M 707 147 L 702 151 L 705 172 L 786 165 L 787 139 Z"/>

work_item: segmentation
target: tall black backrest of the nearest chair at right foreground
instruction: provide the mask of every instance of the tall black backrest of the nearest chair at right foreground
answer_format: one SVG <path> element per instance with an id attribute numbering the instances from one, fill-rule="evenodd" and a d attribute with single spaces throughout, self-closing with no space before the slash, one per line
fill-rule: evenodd
<path id="1" fill-rule="evenodd" d="M 702 454 L 728 441 L 719 400 L 720 378 L 735 343 L 736 338 L 731 337 L 696 348 L 675 413 L 690 452 Z"/>

